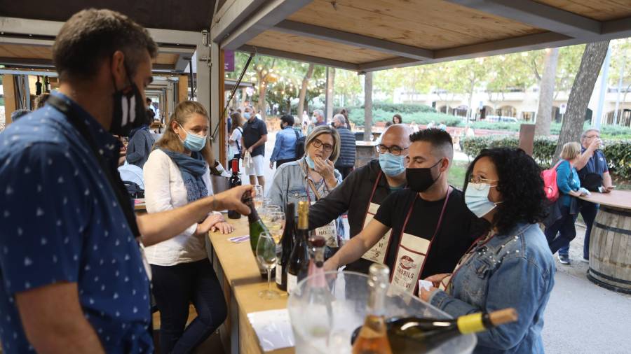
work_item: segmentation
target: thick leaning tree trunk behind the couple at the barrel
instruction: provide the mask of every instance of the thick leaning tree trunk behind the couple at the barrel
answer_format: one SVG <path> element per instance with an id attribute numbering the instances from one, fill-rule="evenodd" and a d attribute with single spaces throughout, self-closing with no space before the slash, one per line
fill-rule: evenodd
<path id="1" fill-rule="evenodd" d="M 587 112 L 588 103 L 594 91 L 594 85 L 602 67 L 602 62 L 607 54 L 607 48 L 609 48 L 609 41 L 585 45 L 581 66 L 578 67 L 578 73 L 576 73 L 576 79 L 567 102 L 567 111 L 561 125 L 561 133 L 559 134 L 557 150 L 555 150 L 554 156 L 559 156 L 565 143 L 580 141 L 581 139 L 585 113 Z M 600 117 L 596 117 L 596 119 L 600 119 Z"/>

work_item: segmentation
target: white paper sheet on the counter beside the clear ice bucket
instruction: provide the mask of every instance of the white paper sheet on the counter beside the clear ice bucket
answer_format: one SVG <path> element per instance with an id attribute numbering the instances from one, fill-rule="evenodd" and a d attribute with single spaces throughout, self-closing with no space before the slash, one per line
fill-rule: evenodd
<path id="1" fill-rule="evenodd" d="M 287 309 L 259 311 L 247 314 L 263 351 L 275 351 L 295 345 L 294 333 Z"/>

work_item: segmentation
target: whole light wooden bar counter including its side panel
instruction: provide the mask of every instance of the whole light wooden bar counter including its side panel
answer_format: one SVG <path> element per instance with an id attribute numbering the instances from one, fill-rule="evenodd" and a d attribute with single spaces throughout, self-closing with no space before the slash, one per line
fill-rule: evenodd
<path id="1" fill-rule="evenodd" d="M 262 351 L 258 337 L 247 319 L 247 313 L 285 309 L 287 307 L 287 293 L 278 290 L 276 283 L 273 283 L 272 287 L 281 293 L 281 297 L 274 300 L 259 298 L 259 291 L 265 290 L 267 283 L 259 275 L 255 257 L 250 249 L 250 242 L 233 243 L 228 241 L 233 236 L 248 234 L 247 218 L 241 217 L 238 220 L 232 220 L 226 217 L 226 220 L 235 227 L 234 232 L 227 235 L 211 232 L 206 239 L 208 257 L 215 267 L 217 278 L 222 284 L 228 303 L 228 319 L 219 330 L 226 353 L 294 353 L 293 348 L 283 348 L 271 352 Z"/>

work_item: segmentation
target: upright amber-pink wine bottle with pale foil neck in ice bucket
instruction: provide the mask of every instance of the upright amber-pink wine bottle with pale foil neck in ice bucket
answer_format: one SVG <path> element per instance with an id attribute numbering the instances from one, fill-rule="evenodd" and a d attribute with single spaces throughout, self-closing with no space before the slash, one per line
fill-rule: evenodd
<path id="1" fill-rule="evenodd" d="M 368 272 L 368 314 L 353 344 L 353 354 L 392 354 L 384 318 L 390 269 L 384 264 L 375 263 L 370 266 Z"/>

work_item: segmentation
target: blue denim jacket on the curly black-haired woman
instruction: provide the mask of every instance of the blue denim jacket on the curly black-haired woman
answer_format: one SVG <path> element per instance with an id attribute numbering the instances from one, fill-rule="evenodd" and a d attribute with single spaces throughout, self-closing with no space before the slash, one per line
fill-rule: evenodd
<path id="1" fill-rule="evenodd" d="M 537 224 L 518 224 L 475 246 L 452 277 L 449 293 L 437 290 L 430 304 L 457 317 L 508 307 L 519 320 L 477 334 L 474 353 L 544 353 L 543 311 L 555 284 L 555 262 Z"/>

